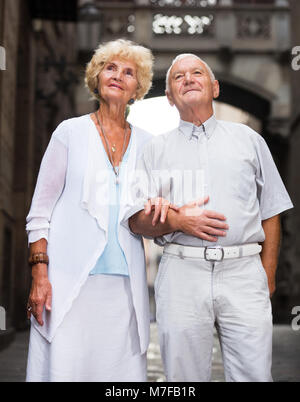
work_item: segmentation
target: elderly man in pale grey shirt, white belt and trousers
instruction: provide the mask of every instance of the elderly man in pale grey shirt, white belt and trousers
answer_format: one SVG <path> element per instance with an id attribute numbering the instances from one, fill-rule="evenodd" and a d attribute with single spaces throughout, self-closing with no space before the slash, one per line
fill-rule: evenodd
<path id="1" fill-rule="evenodd" d="M 196 202 L 179 211 L 164 206 L 161 212 L 157 206 L 154 218 L 150 201 L 130 219 L 133 232 L 164 246 L 155 297 L 167 380 L 210 380 L 216 327 L 226 381 L 272 381 L 270 296 L 279 214 L 292 203 L 264 139 L 243 124 L 216 120 L 213 99 L 219 83 L 205 62 L 195 55 L 178 56 L 167 73 L 166 95 L 181 120 L 144 151 L 139 168 L 152 183 L 147 198 L 163 196 L 183 205 L 187 200 L 178 202 L 182 191 L 177 191 L 180 180 L 171 177 L 174 171 L 177 176 L 192 172 L 191 186 L 201 182 L 193 194 L 209 195 L 204 207 Z M 146 196 L 145 187 L 141 192 Z M 209 230 L 208 238 L 185 231 L 186 222 L 206 207 L 224 214 L 229 226 L 227 235 L 214 242 L 209 242 Z M 160 212 L 161 222 L 153 226 Z"/>

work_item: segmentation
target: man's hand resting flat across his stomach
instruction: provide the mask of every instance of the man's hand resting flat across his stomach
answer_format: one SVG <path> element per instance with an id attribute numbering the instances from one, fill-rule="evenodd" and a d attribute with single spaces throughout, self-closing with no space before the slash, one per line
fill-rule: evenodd
<path id="1" fill-rule="evenodd" d="M 215 242 L 216 236 L 226 236 L 229 226 L 224 222 L 226 217 L 219 212 L 201 208 L 209 200 L 205 197 L 184 205 L 179 209 L 179 230 L 203 240 Z"/>

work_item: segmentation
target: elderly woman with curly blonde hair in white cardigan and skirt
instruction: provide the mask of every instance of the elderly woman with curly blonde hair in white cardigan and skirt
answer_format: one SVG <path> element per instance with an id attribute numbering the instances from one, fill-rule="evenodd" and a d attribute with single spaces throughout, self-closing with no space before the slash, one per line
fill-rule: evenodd
<path id="1" fill-rule="evenodd" d="M 128 227 L 130 173 L 150 135 L 125 119 L 151 86 L 151 52 L 100 45 L 86 84 L 100 102 L 63 121 L 27 216 L 32 288 L 27 381 L 145 381 L 149 305 L 142 239 Z"/>

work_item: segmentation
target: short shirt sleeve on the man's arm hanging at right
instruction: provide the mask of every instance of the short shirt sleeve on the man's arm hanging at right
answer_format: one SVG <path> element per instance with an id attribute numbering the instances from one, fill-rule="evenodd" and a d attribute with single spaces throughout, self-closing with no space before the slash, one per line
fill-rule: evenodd
<path id="1" fill-rule="evenodd" d="M 256 172 L 257 194 L 261 219 L 266 220 L 293 208 L 277 170 L 272 154 L 261 136 L 257 136 L 258 168 Z"/>

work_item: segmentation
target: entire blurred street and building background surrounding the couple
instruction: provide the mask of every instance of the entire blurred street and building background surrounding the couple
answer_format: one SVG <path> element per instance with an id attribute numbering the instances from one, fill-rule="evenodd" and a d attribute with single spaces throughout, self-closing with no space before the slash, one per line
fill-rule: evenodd
<path id="1" fill-rule="evenodd" d="M 155 56 L 152 90 L 130 108 L 132 124 L 154 135 L 177 125 L 165 74 L 177 54 L 191 52 L 220 82 L 216 117 L 245 123 L 266 140 L 294 203 L 282 215 L 273 374 L 275 381 L 300 380 L 300 331 L 291 330 L 300 306 L 299 21 L 299 0 L 0 0 L 0 381 L 25 375 L 25 217 L 42 156 L 61 121 L 96 110 L 85 66 L 99 43 L 117 38 Z M 145 249 L 153 320 L 162 250 L 149 240 Z M 151 331 L 149 380 L 163 381 L 154 322 Z M 213 381 L 223 380 L 215 338 Z"/>

